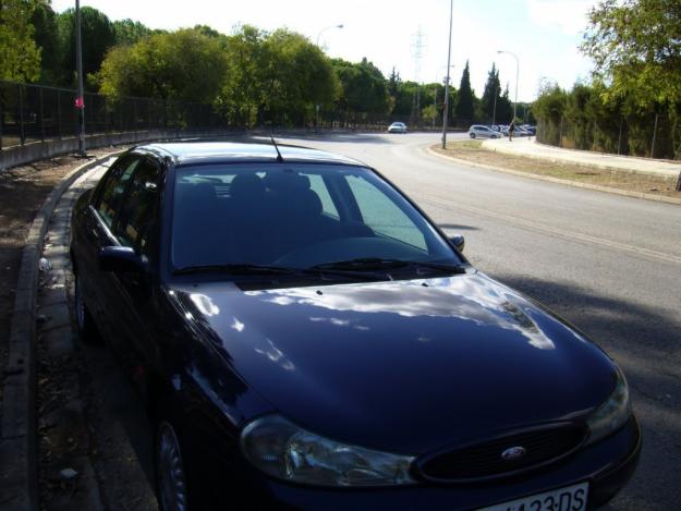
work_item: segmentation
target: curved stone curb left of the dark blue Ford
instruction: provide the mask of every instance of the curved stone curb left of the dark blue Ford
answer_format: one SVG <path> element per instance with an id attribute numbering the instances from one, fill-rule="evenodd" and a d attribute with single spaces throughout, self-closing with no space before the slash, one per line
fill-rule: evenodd
<path id="1" fill-rule="evenodd" d="M 36 424 L 36 303 L 38 261 L 50 218 L 62 194 L 89 169 L 125 149 L 113 150 L 69 172 L 36 214 L 16 281 L 4 369 L 2 438 L 0 440 L 0 503 L 5 511 L 38 509 Z"/>

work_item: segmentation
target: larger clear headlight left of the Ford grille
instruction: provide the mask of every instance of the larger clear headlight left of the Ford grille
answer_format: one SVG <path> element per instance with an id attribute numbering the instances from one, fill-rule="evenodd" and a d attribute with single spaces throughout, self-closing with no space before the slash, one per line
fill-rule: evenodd
<path id="1" fill-rule="evenodd" d="M 279 415 L 257 418 L 241 434 L 246 459 L 266 474 L 318 486 L 394 486 L 414 483 L 413 457 L 349 446 L 306 431 Z"/>

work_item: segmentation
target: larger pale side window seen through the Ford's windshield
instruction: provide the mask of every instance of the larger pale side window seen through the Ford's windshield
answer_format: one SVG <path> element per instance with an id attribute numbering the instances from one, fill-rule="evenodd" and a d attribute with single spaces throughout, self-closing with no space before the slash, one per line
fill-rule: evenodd
<path id="1" fill-rule="evenodd" d="M 421 230 L 385 193 L 361 175 L 346 175 L 345 179 L 365 224 L 378 234 L 427 251 Z"/>

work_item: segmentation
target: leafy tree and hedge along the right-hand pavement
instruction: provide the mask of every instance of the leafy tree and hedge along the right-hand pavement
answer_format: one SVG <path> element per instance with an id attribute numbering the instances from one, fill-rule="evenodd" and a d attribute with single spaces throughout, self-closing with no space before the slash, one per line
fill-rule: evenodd
<path id="1" fill-rule="evenodd" d="M 533 105 L 540 142 L 681 158 L 681 2 L 606 0 L 591 11 L 582 51 L 591 83 L 545 83 Z"/>

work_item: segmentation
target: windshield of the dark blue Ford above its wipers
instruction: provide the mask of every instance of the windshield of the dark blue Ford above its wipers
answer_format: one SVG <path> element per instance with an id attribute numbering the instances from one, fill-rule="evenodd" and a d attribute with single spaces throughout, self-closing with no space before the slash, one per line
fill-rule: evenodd
<path id="1" fill-rule="evenodd" d="M 357 261 L 387 260 L 461 264 L 423 216 L 369 169 L 313 163 L 175 169 L 174 271 L 230 265 L 309 269 L 339 261 L 356 269 Z"/>

